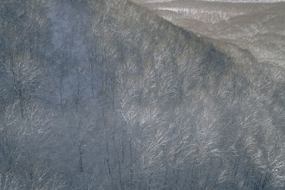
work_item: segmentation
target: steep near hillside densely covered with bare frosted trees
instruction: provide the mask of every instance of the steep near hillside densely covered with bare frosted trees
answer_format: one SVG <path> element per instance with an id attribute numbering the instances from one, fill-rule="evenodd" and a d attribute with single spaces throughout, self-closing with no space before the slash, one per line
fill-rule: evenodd
<path id="1" fill-rule="evenodd" d="M 1 0 L 0 189 L 284 189 L 284 92 L 127 0 Z"/>

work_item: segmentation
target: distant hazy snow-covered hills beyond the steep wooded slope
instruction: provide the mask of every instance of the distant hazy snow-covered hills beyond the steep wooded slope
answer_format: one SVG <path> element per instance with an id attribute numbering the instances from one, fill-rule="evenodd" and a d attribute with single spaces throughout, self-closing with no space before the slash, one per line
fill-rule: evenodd
<path id="1" fill-rule="evenodd" d="M 284 0 L 147 0 L 140 3 L 177 26 L 218 41 L 217 44 L 233 43 L 249 50 L 259 62 L 285 67 Z"/>

